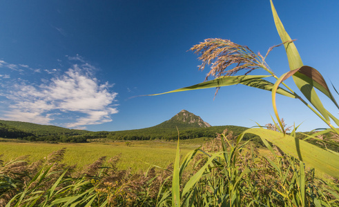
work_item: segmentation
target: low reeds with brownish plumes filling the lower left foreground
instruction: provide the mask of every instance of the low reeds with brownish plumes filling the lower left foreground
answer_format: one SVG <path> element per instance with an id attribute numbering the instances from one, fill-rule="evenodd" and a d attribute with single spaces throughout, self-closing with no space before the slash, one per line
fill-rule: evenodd
<path id="1" fill-rule="evenodd" d="M 155 206 L 169 170 L 117 168 L 120 155 L 76 170 L 62 163 L 66 149 L 28 164 L 28 157 L 1 162 L 0 206 Z"/>

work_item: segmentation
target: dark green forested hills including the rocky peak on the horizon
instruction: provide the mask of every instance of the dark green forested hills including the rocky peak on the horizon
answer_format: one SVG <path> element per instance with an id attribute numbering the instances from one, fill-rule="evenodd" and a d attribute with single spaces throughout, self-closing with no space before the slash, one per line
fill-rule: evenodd
<path id="1" fill-rule="evenodd" d="M 171 119 L 156 126 L 113 132 L 90 132 L 21 121 L 0 120 L 0 137 L 48 142 L 86 142 L 87 139 L 98 138 L 113 140 L 173 140 L 178 137 L 177 128 L 179 129 L 180 139 L 215 137 L 216 133 L 222 133 L 226 128 L 233 131 L 233 135 L 239 135 L 246 130 L 241 126 L 211 126 L 206 121 L 203 121 L 201 117 L 187 110 L 182 110 Z"/>

